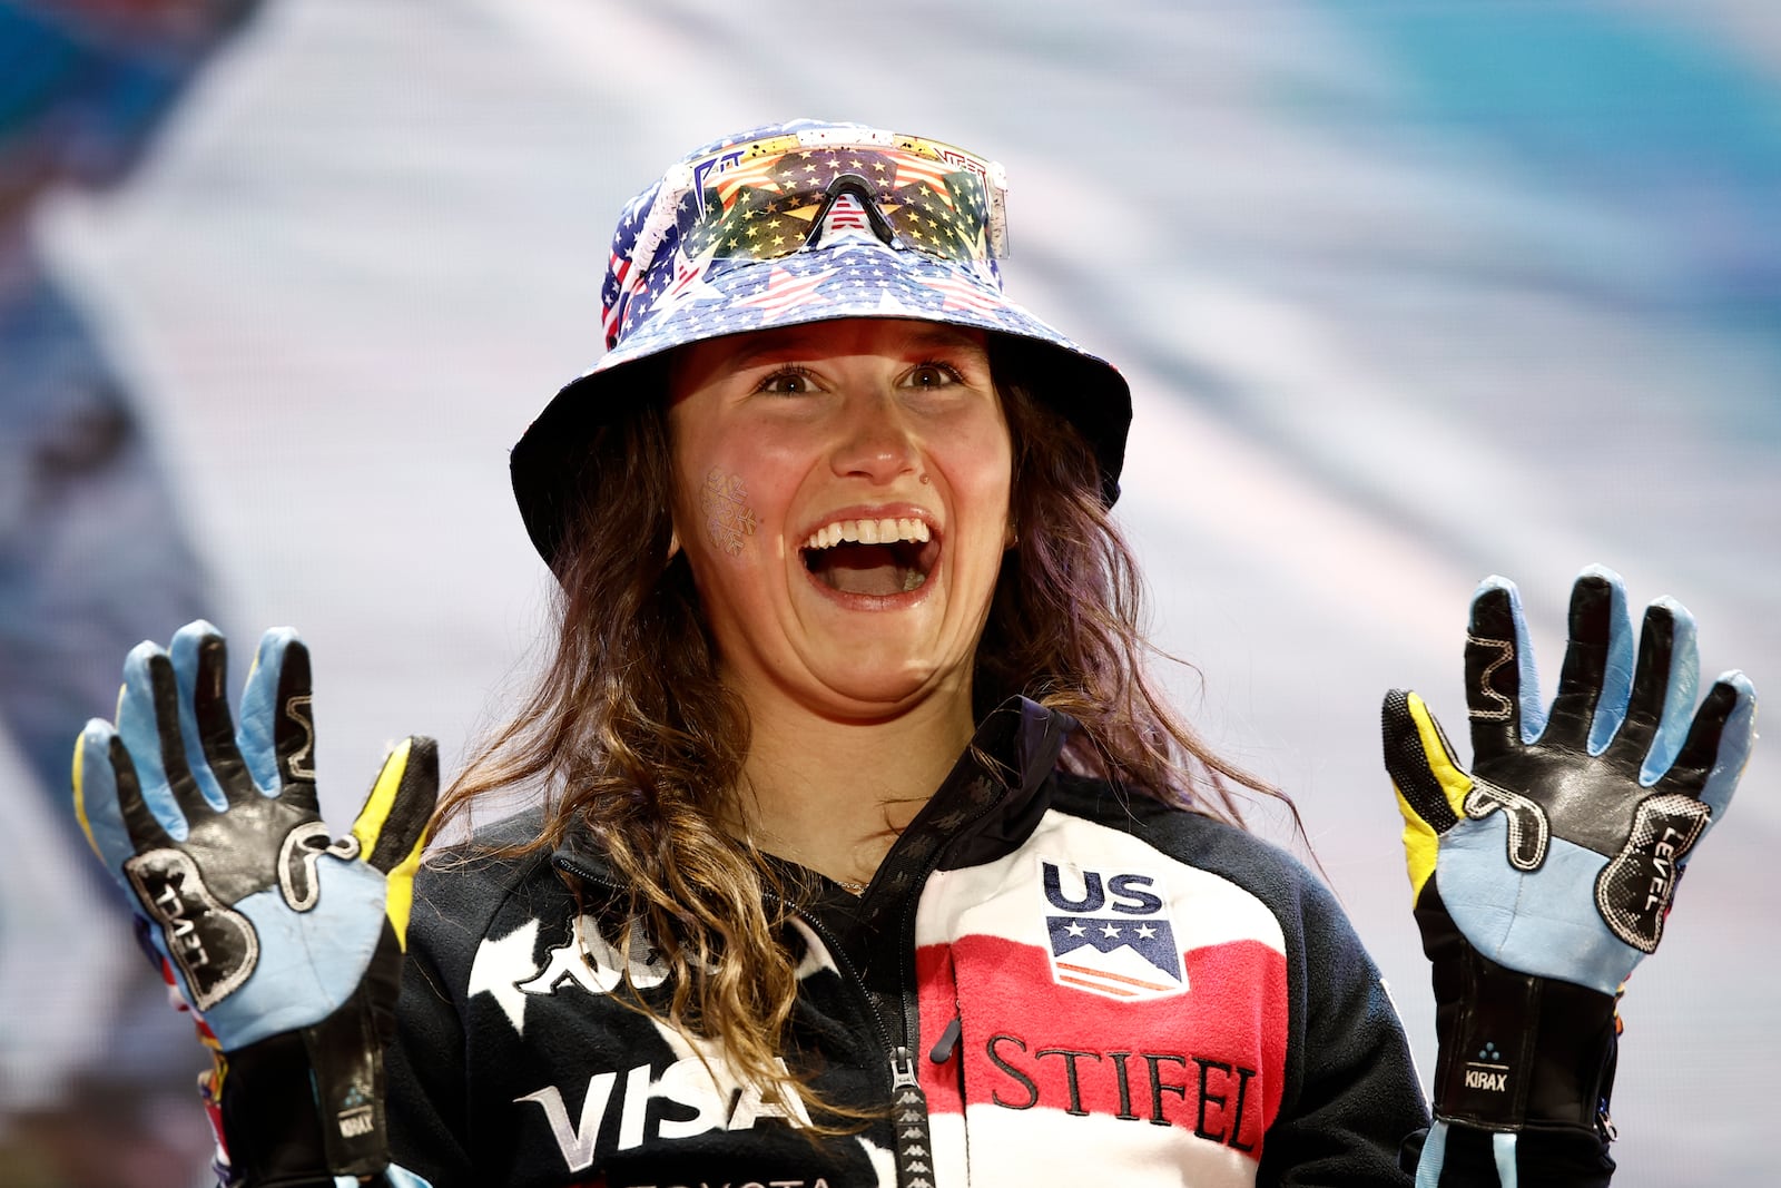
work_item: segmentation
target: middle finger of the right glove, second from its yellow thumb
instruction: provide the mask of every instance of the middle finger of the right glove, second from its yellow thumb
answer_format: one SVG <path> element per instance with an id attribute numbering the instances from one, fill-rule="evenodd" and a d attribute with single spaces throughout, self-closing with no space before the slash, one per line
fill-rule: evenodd
<path id="1" fill-rule="evenodd" d="M 1633 623 L 1619 574 L 1599 565 L 1578 574 L 1569 634 L 1541 741 L 1599 755 L 1626 716 L 1633 682 Z"/>

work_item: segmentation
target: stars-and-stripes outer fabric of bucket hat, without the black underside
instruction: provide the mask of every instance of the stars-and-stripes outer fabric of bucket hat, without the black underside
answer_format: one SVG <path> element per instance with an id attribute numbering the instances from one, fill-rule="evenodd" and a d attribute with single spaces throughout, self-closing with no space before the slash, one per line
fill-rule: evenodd
<path id="1" fill-rule="evenodd" d="M 1003 294 L 987 242 L 988 182 L 971 166 L 871 144 L 721 155 L 807 128 L 871 132 L 793 121 L 727 137 L 625 207 L 600 292 L 609 351 L 595 372 L 703 338 L 839 317 L 955 322 L 1079 351 Z M 848 175 L 871 183 L 890 244 L 851 191 L 807 242 L 825 189 Z M 671 194 L 677 182 L 686 192 L 671 224 L 650 226 L 663 187 Z"/>

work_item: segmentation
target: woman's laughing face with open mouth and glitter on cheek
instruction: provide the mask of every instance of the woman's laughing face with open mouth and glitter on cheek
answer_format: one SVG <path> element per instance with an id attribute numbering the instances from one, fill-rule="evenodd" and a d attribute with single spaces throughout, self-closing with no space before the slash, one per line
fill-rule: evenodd
<path id="1" fill-rule="evenodd" d="M 962 698 L 1008 543 L 978 331 L 848 319 L 684 347 L 675 534 L 725 680 L 869 721 Z"/>

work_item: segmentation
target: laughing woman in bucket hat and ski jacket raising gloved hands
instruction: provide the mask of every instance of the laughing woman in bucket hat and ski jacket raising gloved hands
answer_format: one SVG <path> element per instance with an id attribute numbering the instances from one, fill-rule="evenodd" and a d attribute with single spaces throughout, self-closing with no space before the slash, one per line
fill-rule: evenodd
<path id="1" fill-rule="evenodd" d="M 796 121 L 627 207 L 609 351 L 513 452 L 556 654 L 440 819 L 525 784 L 541 807 L 431 860 L 411 912 L 426 745 L 328 846 L 289 632 L 240 745 L 214 631 L 132 654 L 77 801 L 224 1053 L 239 1179 L 379 1170 L 386 1101 L 390 1176 L 436 1188 L 1375 1184 L 1409 1181 L 1405 1140 L 1421 1183 L 1606 1183 L 1603 980 L 1655 948 L 1626 908 L 1667 905 L 1655 848 L 1729 798 L 1747 682 L 1690 728 L 1665 607 L 1621 688 L 1624 597 L 1587 572 L 1546 736 L 1512 588 L 1475 602 L 1476 780 L 1387 698 L 1428 1131 L 1339 908 L 1236 825 L 1229 785 L 1268 789 L 1145 682 L 1108 520 L 1127 390 L 1003 297 L 1003 191 L 953 146 Z M 1525 953 L 1505 919 L 1608 940 Z"/>

